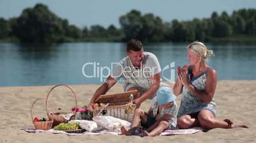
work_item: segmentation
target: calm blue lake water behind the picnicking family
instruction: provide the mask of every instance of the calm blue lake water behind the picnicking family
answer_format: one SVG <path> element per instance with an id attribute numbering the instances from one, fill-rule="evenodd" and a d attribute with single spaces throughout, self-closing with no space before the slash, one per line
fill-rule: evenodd
<path id="1" fill-rule="evenodd" d="M 256 46 L 245 44 L 206 44 L 215 56 L 208 61 L 218 73 L 218 80 L 255 80 Z M 146 44 L 145 51 L 157 56 L 164 68 L 174 62 L 175 66 L 188 63 L 187 43 Z M 55 84 L 101 84 L 101 75 L 86 78 L 82 68 L 85 63 L 96 63 L 97 68 L 111 67 L 125 56 L 124 43 L 83 42 L 45 46 L 20 46 L 0 44 L 0 86 L 55 85 Z M 92 75 L 94 67 L 86 66 L 84 73 Z M 171 67 L 171 66 L 170 66 Z M 174 68 L 173 68 L 174 69 Z M 171 68 L 162 76 L 170 77 Z M 163 78 L 165 80 L 165 78 Z"/>

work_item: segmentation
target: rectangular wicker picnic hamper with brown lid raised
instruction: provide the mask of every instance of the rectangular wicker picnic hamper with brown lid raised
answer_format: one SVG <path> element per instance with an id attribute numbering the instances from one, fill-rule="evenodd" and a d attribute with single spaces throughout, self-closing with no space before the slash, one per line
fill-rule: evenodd
<path id="1" fill-rule="evenodd" d="M 94 104 L 94 116 L 113 116 L 131 121 L 136 109 L 136 104 L 129 102 L 131 94 L 133 99 L 138 98 L 138 90 L 99 96 Z"/>

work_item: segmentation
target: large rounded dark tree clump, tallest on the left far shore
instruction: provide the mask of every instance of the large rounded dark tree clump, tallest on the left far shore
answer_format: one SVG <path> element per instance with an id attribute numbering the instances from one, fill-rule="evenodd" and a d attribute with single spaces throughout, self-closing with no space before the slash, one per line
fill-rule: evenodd
<path id="1" fill-rule="evenodd" d="M 12 28 L 20 42 L 48 44 L 57 42 L 64 34 L 62 20 L 44 4 L 24 9 Z"/>

